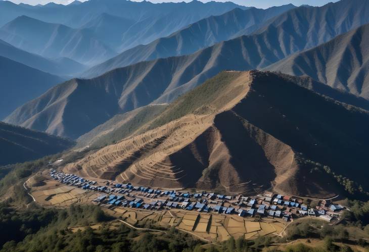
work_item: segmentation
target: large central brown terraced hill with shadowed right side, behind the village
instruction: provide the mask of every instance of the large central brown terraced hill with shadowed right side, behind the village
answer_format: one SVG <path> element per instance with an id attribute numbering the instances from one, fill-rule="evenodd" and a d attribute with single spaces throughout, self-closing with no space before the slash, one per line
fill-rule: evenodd
<path id="1" fill-rule="evenodd" d="M 222 72 L 141 126 L 144 133 L 64 171 L 161 188 L 333 194 L 328 175 L 315 173 L 304 159 L 365 187 L 368 112 L 304 83 L 268 72 Z"/>

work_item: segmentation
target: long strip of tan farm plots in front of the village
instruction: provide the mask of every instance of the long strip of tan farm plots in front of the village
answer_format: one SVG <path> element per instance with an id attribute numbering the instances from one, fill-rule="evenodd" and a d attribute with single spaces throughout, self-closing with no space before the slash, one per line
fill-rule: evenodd
<path id="1" fill-rule="evenodd" d="M 145 211 L 131 208 L 114 208 L 111 214 L 131 225 L 171 227 L 193 233 L 209 241 L 225 241 L 230 236 L 255 239 L 258 236 L 279 235 L 286 226 L 282 220 L 265 218 L 260 222 L 254 218 L 237 215 L 197 213 L 185 210 Z M 140 218 L 138 216 L 141 216 Z"/>

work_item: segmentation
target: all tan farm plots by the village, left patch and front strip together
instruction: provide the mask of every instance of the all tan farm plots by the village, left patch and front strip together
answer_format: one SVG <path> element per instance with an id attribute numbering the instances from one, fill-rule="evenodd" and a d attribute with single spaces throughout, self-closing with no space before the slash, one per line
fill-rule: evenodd
<path id="1" fill-rule="evenodd" d="M 32 181 L 29 184 L 32 184 Z M 31 186 L 28 185 L 28 187 Z M 93 204 L 93 199 L 100 195 L 98 192 L 61 184 L 53 179 L 45 179 L 43 183 L 36 186 L 33 183 L 30 192 L 40 205 L 60 208 L 71 204 Z M 154 229 L 167 229 L 174 226 L 213 242 L 225 241 L 231 236 L 255 239 L 258 236 L 280 235 L 286 226 L 286 223 L 280 219 L 263 218 L 261 221 L 256 221 L 254 218 L 243 218 L 236 214 L 199 213 L 181 209 L 148 211 L 113 207 L 110 204 L 101 206 L 109 215 L 132 226 L 150 226 Z"/>

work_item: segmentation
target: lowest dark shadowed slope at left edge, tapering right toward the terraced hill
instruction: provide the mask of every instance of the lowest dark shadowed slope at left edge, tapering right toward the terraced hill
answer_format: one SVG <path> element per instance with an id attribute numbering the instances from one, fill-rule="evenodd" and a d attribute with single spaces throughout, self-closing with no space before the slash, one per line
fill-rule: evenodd
<path id="1" fill-rule="evenodd" d="M 0 122 L 0 165 L 39 159 L 73 144 L 65 138 Z"/>

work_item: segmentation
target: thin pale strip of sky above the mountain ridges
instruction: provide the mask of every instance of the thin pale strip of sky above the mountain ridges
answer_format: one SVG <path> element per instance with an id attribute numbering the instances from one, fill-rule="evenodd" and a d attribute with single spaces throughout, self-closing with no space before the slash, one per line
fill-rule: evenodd
<path id="1" fill-rule="evenodd" d="M 69 4 L 73 2 L 74 0 L 10 0 L 14 3 L 25 3 L 29 5 L 37 5 L 37 4 L 47 4 L 50 2 L 54 2 L 57 4 Z M 84 0 L 80 0 L 83 2 Z M 107 0 L 109 1 L 109 0 Z M 141 2 L 139 0 L 134 0 L 137 2 Z M 162 3 L 162 2 L 182 2 L 183 0 L 150 0 L 150 2 L 153 3 Z M 190 0 L 191 1 L 191 0 Z M 186 0 L 184 2 L 190 2 L 189 0 Z M 202 2 L 209 2 L 206 0 L 200 0 Z M 225 2 L 225 0 L 216 0 L 218 2 Z M 243 6 L 254 6 L 257 8 L 268 8 L 271 6 L 280 6 L 280 5 L 286 5 L 286 4 L 294 4 L 296 6 L 300 5 L 311 5 L 311 6 L 322 6 L 329 2 L 337 2 L 338 0 L 232 0 L 232 2 L 243 5 Z"/>

